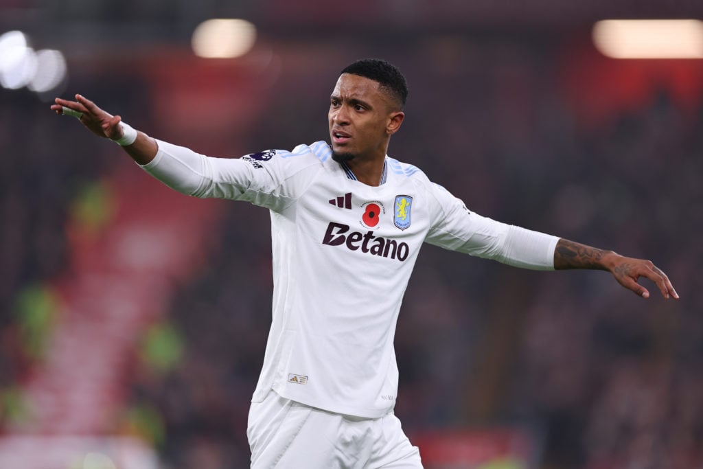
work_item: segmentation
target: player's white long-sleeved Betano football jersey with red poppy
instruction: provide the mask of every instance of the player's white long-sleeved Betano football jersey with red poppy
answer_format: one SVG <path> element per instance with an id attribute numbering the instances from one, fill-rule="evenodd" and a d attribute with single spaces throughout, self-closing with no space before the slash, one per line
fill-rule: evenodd
<path id="1" fill-rule="evenodd" d="M 472 213 L 420 169 L 393 158 L 373 187 L 335 162 L 324 141 L 238 159 L 158 144 L 143 168 L 165 184 L 271 211 L 273 318 L 253 401 L 273 389 L 335 413 L 376 418 L 390 411 L 398 388 L 396 320 L 425 241 L 553 269 L 558 238 Z M 529 255 L 513 253 L 515 233 L 529 234 Z"/>

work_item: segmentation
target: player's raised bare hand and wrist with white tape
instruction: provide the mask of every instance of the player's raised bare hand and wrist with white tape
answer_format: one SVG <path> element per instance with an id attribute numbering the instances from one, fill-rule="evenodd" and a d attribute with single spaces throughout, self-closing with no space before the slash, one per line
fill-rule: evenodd
<path id="1" fill-rule="evenodd" d="M 93 134 L 115 141 L 124 136 L 122 118 L 98 108 L 93 101 L 84 96 L 77 94 L 76 101 L 61 98 L 56 98 L 55 101 L 56 104 L 51 105 L 51 109 L 56 114 L 74 115 Z M 122 148 L 140 165 L 146 165 L 153 160 L 159 149 L 156 141 L 141 131 L 137 131 L 136 140 L 133 143 L 124 145 Z"/>

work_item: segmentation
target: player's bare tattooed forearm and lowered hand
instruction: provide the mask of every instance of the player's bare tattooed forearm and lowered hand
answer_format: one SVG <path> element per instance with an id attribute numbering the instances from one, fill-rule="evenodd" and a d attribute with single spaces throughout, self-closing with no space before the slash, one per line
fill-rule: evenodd
<path id="1" fill-rule="evenodd" d="M 651 261 L 624 257 L 613 251 L 591 248 L 564 238 L 557 241 L 554 268 L 609 271 L 620 285 L 640 297 L 649 298 L 650 292 L 647 288 L 637 283 L 640 277 L 645 277 L 657 285 L 664 298 L 673 297 L 678 300 L 678 293 L 673 289 L 669 277 Z"/>

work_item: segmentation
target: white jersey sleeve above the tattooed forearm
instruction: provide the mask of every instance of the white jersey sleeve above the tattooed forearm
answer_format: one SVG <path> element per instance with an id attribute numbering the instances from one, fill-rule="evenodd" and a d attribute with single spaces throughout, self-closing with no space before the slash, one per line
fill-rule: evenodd
<path id="1" fill-rule="evenodd" d="M 554 269 L 557 236 L 470 212 L 461 200 L 441 186 L 431 192 L 437 206 L 427 243 L 524 269 Z"/>

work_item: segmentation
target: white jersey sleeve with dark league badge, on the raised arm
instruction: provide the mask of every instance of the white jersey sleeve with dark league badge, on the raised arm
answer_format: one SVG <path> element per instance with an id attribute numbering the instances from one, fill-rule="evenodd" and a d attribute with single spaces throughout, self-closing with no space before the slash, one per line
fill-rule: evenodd
<path id="1" fill-rule="evenodd" d="M 170 188 L 198 198 L 246 200 L 271 210 L 283 210 L 307 188 L 309 177 L 301 176 L 302 169 L 317 161 L 280 158 L 294 155 L 285 150 L 213 158 L 165 141 L 157 143 L 155 158 L 141 167 Z"/>

